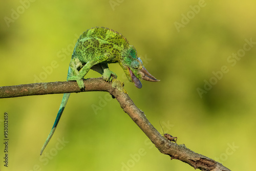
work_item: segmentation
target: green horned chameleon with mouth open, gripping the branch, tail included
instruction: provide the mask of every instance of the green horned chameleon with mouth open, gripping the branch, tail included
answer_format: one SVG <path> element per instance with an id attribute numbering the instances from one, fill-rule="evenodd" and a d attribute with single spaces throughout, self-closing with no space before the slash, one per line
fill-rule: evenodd
<path id="1" fill-rule="evenodd" d="M 92 28 L 80 35 L 72 54 L 67 80 L 77 81 L 78 87 L 84 89 L 83 77 L 92 69 L 102 74 L 105 81 L 112 81 L 117 75 L 110 71 L 108 63 L 119 63 L 128 80 L 134 82 L 139 89 L 142 87 L 140 78 L 153 82 L 160 81 L 143 67 L 136 49 L 129 45 L 125 37 L 104 27 Z M 69 96 L 70 93 L 63 94 L 57 117 L 40 155 L 56 130 Z"/>

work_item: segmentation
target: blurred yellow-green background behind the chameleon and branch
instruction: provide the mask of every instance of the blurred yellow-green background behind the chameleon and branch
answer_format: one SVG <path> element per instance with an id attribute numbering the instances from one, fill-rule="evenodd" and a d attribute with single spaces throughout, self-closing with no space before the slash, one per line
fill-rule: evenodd
<path id="1" fill-rule="evenodd" d="M 108 27 L 124 35 L 145 68 L 161 79 L 142 81 L 137 89 L 119 65 L 110 65 L 156 129 L 162 132 L 161 121 L 178 144 L 231 170 L 252 170 L 256 45 L 245 45 L 245 39 L 256 42 L 255 5 L 252 0 L 2 2 L 0 86 L 65 81 L 77 37 L 92 27 Z M 232 53 L 242 57 L 228 62 Z M 228 72 L 221 76 L 223 66 Z M 90 71 L 86 77 L 99 76 Z M 197 89 L 210 80 L 215 85 L 200 96 Z M 160 154 L 105 92 L 71 94 L 40 157 L 61 98 L 0 99 L 1 170 L 194 170 Z M 8 168 L 2 161 L 4 112 L 9 115 Z"/>

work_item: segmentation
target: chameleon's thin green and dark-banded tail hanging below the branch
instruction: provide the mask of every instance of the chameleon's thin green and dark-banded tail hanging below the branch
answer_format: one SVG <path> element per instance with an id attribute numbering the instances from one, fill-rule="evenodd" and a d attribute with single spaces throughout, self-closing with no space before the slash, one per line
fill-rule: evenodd
<path id="1" fill-rule="evenodd" d="M 59 106 L 59 111 L 58 111 L 57 117 L 56 117 L 55 122 L 53 124 L 52 130 L 51 130 L 49 136 L 46 139 L 45 144 L 42 146 L 40 155 L 42 155 L 42 152 L 44 152 L 44 149 L 46 148 L 46 145 L 48 144 L 48 142 L 52 138 L 52 135 L 53 135 L 54 131 L 56 130 L 56 127 L 57 127 L 57 124 L 59 122 L 60 116 L 61 116 L 63 110 L 65 109 L 65 106 L 68 102 L 69 96 L 70 96 L 70 93 L 63 94 L 63 98 L 62 98 L 62 101 L 61 101 L 60 106 Z"/>

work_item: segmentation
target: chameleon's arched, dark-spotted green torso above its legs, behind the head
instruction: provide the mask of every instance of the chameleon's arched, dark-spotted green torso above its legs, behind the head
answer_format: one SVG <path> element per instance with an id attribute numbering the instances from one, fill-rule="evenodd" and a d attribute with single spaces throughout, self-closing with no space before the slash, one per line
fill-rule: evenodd
<path id="1" fill-rule="evenodd" d="M 114 58 L 119 58 L 124 49 L 129 48 L 127 39 L 109 28 L 96 27 L 83 32 L 76 42 L 74 56 L 102 55 L 111 53 Z M 97 54 L 96 54 L 97 53 Z"/>

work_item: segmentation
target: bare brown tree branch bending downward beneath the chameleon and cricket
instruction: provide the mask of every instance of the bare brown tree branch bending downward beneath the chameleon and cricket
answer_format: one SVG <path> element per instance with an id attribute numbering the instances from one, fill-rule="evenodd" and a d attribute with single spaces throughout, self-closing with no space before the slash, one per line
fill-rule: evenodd
<path id="1" fill-rule="evenodd" d="M 155 127 L 147 120 L 144 112 L 139 110 L 133 100 L 126 94 L 123 89 L 123 83 L 119 80 L 105 82 L 102 78 L 90 78 L 84 80 L 87 91 L 105 91 L 114 96 L 120 103 L 121 108 L 127 113 L 132 120 L 140 127 L 148 138 L 155 144 L 159 151 L 170 156 L 171 159 L 178 159 L 190 166 L 201 170 L 229 170 L 221 163 L 212 160 L 203 155 L 197 154 L 188 149 L 184 144 L 170 142 L 161 136 Z M 56 94 L 56 93 L 78 93 L 82 92 L 75 81 L 65 82 L 42 82 L 23 84 L 18 86 L 0 87 L 0 98 Z"/>

